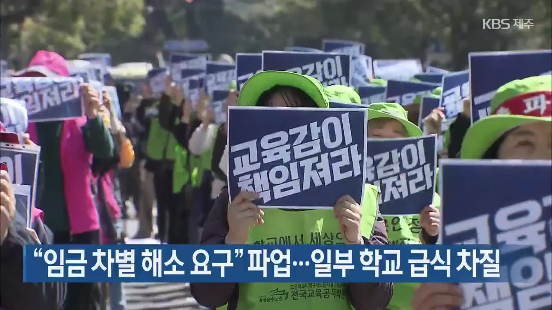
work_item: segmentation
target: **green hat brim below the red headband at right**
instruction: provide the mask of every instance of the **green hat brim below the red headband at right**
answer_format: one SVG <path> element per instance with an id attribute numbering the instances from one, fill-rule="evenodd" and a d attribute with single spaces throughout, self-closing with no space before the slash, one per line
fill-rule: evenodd
<path id="1" fill-rule="evenodd" d="M 552 117 L 526 116 L 526 115 L 490 115 L 476 121 L 466 132 L 460 158 L 481 159 L 487 149 L 500 138 L 503 133 L 517 126 L 535 121 L 552 121 Z"/>

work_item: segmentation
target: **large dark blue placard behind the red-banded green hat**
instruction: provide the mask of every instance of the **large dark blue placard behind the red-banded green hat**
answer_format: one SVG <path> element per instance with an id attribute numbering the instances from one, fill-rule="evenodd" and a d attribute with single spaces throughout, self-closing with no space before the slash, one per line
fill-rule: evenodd
<path id="1" fill-rule="evenodd" d="M 490 114 L 491 99 L 502 85 L 532 76 L 550 74 L 552 51 L 471 52 L 471 122 Z"/>

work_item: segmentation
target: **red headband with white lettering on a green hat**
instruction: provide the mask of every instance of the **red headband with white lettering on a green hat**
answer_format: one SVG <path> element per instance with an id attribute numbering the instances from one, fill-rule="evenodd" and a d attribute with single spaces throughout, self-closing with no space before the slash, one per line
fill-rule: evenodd
<path id="1" fill-rule="evenodd" d="M 552 92 L 545 90 L 518 95 L 498 105 L 491 113 L 496 114 L 552 116 Z"/>

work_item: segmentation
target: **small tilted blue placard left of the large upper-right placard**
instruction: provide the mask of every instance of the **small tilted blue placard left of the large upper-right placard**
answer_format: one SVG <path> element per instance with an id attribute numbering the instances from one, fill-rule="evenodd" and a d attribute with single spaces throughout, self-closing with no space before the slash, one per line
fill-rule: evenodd
<path id="1" fill-rule="evenodd" d="M 464 111 L 463 99 L 470 94 L 470 73 L 468 70 L 453 72 L 443 77 L 442 95 L 439 106 L 444 108 L 447 119 L 443 131 L 447 131 L 459 113 Z"/>

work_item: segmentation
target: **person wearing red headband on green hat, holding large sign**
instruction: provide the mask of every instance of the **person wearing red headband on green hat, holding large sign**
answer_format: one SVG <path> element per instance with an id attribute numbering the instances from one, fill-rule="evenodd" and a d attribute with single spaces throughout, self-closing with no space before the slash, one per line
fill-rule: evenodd
<path id="1" fill-rule="evenodd" d="M 552 76 L 508 82 L 491 99 L 491 114 L 466 132 L 460 158 L 550 160 L 551 121 Z M 414 296 L 411 304 L 415 310 L 453 309 L 464 304 L 464 293 L 456 284 L 424 283 Z"/>

